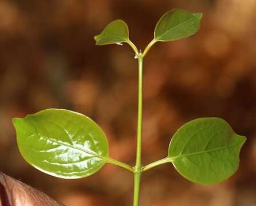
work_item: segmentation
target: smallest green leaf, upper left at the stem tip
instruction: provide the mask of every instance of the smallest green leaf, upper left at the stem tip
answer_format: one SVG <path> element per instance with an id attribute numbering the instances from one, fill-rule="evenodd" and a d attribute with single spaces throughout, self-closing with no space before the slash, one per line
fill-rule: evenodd
<path id="1" fill-rule="evenodd" d="M 96 45 L 108 45 L 112 43 L 121 44 L 129 41 L 129 30 L 127 24 L 117 19 L 109 23 L 105 29 L 94 37 Z"/>

